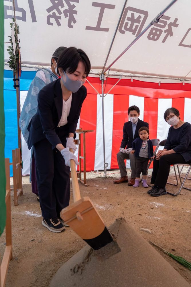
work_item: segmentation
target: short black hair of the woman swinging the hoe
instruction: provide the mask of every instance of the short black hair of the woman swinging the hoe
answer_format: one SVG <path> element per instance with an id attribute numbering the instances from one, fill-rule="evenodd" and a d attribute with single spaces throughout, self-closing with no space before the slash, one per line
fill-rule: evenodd
<path id="1" fill-rule="evenodd" d="M 72 74 L 76 71 L 80 61 L 85 66 L 85 74 L 88 75 L 90 72 L 91 64 L 86 53 L 81 49 L 76 49 L 75 47 L 67 48 L 58 58 L 57 71 L 58 68 L 62 68 L 64 72 Z M 59 74 L 59 71 L 57 73 Z"/>

